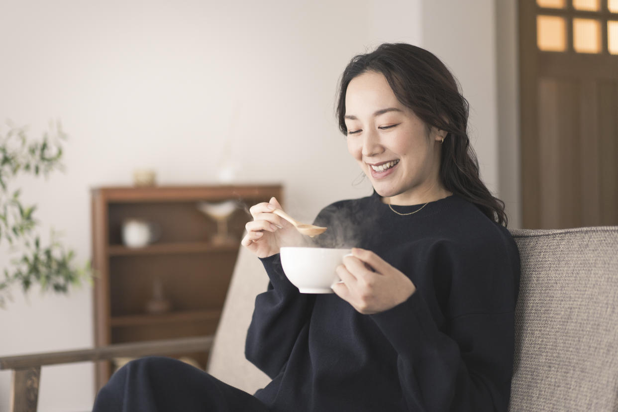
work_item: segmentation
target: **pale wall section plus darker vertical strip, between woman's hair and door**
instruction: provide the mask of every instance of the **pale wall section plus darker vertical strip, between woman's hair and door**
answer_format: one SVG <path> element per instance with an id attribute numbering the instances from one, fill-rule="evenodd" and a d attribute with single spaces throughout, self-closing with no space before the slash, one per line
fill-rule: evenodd
<path id="1" fill-rule="evenodd" d="M 481 179 L 520 227 L 519 110 L 514 0 L 426 0 L 423 47 L 445 62 L 470 103 L 468 134 Z"/>

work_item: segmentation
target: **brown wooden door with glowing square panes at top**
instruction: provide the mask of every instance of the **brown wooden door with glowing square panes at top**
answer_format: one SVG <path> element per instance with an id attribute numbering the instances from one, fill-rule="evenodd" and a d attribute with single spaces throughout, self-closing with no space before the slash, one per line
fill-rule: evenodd
<path id="1" fill-rule="evenodd" d="M 520 0 L 523 227 L 618 224 L 618 0 Z"/>

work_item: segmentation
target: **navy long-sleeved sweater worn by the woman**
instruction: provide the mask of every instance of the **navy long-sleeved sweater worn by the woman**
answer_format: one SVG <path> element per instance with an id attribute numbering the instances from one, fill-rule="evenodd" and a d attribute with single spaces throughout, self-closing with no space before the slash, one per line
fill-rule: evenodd
<path id="1" fill-rule="evenodd" d="M 364 315 L 335 294 L 299 293 L 279 254 L 261 259 L 270 282 L 245 355 L 273 380 L 257 398 L 276 412 L 507 410 L 520 272 L 508 230 L 457 195 L 400 216 L 375 192 L 315 224 L 328 227 L 320 246 L 374 251 L 417 290 Z"/>

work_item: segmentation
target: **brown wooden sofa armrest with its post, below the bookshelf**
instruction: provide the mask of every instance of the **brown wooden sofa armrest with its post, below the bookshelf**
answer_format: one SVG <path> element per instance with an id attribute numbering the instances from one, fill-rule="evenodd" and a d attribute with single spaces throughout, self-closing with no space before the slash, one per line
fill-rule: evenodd
<path id="1" fill-rule="evenodd" d="M 183 352 L 208 351 L 212 336 L 150 340 L 137 343 L 117 343 L 106 347 L 35 353 L 0 358 L 0 370 L 12 369 L 11 412 L 36 412 L 41 366 L 74 362 L 105 361 L 130 356 L 175 355 Z"/>

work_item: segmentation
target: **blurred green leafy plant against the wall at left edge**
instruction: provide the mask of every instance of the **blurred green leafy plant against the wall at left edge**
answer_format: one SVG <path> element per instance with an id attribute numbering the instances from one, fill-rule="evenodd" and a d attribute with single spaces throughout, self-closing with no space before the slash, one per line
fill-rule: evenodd
<path id="1" fill-rule="evenodd" d="M 28 140 L 25 127 L 15 127 L 10 122 L 9 132 L 0 133 L 0 241 L 9 242 L 11 253 L 17 252 L 11 259 L 11 266 L 4 268 L 4 281 L 0 290 L 8 290 L 13 283 L 22 285 L 26 292 L 33 284 L 40 284 L 42 290 L 67 293 L 70 285 L 80 284 L 82 279 L 91 281 L 93 270 L 88 263 L 86 268 L 76 267 L 72 260 L 73 250 L 66 250 L 56 233 L 52 231 L 49 245 L 42 247 L 36 233 L 38 222 L 33 218 L 36 204 L 23 205 L 20 202 L 21 189 L 12 194 L 7 193 L 19 172 L 47 175 L 53 170 L 62 170 L 62 146 L 60 140 L 67 135 L 60 122 L 50 125 L 54 135 L 45 132 L 41 140 Z M 10 269 L 10 270 L 9 270 Z M 8 295 L 10 298 L 10 294 Z M 0 294 L 0 308 L 4 308 L 6 296 Z"/>

